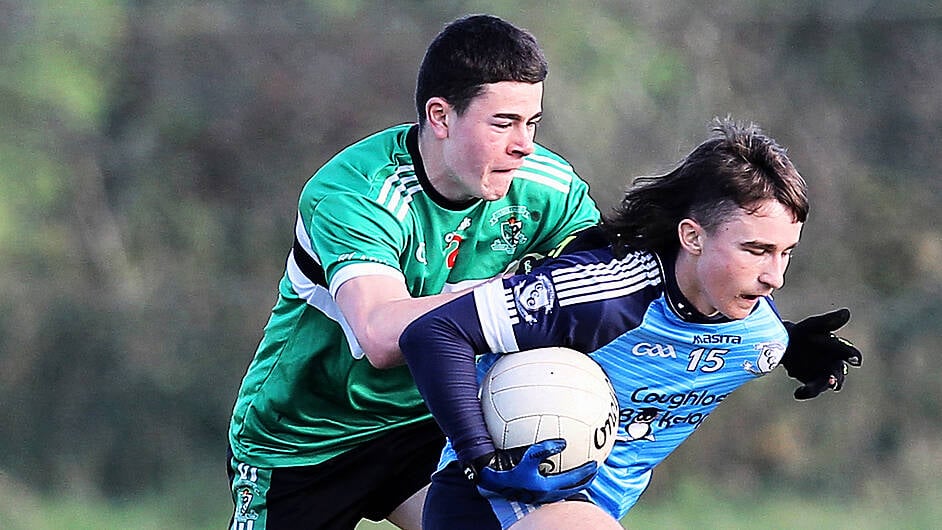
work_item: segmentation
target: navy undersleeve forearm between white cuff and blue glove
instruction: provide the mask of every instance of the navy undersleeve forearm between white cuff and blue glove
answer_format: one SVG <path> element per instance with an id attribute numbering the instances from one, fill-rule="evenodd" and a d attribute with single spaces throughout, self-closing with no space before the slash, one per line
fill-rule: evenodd
<path id="1" fill-rule="evenodd" d="M 399 343 L 416 386 L 463 461 L 492 452 L 478 401 L 477 353 L 486 351 L 473 296 L 420 317 Z"/>

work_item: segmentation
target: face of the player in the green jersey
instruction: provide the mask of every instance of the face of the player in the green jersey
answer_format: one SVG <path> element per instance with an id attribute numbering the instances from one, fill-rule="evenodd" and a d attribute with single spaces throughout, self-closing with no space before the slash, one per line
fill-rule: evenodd
<path id="1" fill-rule="evenodd" d="M 444 182 L 435 187 L 452 200 L 507 195 L 523 157 L 533 153 L 543 115 L 543 83 L 502 81 L 485 86 L 460 116 L 449 110 L 443 142 Z"/>

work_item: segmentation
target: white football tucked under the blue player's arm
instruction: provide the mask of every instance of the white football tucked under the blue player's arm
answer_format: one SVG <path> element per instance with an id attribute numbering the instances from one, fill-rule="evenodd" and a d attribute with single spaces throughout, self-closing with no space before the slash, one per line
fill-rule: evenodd
<path id="1" fill-rule="evenodd" d="M 481 383 L 481 408 L 498 449 L 566 440 L 561 453 L 540 465 L 546 474 L 591 460 L 601 465 L 615 444 L 618 400 L 612 384 L 588 355 L 568 348 L 502 355 Z"/>

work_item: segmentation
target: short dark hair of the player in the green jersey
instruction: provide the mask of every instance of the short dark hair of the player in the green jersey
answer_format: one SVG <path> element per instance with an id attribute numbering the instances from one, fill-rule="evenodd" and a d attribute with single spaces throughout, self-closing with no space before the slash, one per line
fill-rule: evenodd
<path id="1" fill-rule="evenodd" d="M 543 50 L 526 30 L 491 15 L 459 18 L 429 44 L 419 67 L 419 125 L 424 125 L 425 103 L 433 97 L 444 98 L 461 114 L 486 84 L 539 83 L 546 73 Z"/>

